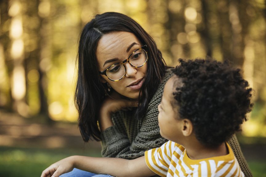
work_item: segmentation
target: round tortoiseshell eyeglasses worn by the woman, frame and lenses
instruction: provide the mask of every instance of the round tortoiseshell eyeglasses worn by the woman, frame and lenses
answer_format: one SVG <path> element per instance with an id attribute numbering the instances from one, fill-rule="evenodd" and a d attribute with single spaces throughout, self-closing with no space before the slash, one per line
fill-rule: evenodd
<path id="1" fill-rule="evenodd" d="M 109 66 L 103 71 L 99 71 L 100 74 L 105 75 L 111 81 L 119 81 L 125 77 L 127 71 L 125 63 L 128 62 L 132 67 L 139 68 L 145 65 L 148 61 L 148 54 L 146 52 L 147 45 L 132 52 L 127 59 L 122 62 L 115 63 Z"/>

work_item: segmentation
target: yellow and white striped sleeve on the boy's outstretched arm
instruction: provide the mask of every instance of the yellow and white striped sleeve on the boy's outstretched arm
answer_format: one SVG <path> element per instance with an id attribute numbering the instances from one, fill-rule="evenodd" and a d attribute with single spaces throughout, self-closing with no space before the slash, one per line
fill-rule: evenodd
<path id="1" fill-rule="evenodd" d="M 160 176 L 167 175 L 167 171 L 171 164 L 171 148 L 173 145 L 173 142 L 168 141 L 159 148 L 145 151 L 145 161 L 151 171 Z"/>

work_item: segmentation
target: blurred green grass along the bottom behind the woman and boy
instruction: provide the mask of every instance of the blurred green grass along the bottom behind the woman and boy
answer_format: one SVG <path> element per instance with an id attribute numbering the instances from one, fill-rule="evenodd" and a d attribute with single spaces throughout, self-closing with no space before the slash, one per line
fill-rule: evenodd
<path id="1" fill-rule="evenodd" d="M 0 147 L 0 176 L 38 177 L 52 163 L 71 155 L 100 157 L 100 150 Z M 248 162 L 254 177 L 266 177 L 266 162 Z"/>

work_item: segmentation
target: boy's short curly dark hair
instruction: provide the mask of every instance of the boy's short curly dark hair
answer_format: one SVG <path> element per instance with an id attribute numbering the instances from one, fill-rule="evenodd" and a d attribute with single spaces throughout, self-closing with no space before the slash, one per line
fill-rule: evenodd
<path id="1" fill-rule="evenodd" d="M 174 73 L 184 85 L 173 94 L 180 118 L 191 120 L 199 142 L 216 147 L 241 130 L 253 106 L 252 89 L 240 69 L 227 62 L 211 58 L 179 62 Z"/>

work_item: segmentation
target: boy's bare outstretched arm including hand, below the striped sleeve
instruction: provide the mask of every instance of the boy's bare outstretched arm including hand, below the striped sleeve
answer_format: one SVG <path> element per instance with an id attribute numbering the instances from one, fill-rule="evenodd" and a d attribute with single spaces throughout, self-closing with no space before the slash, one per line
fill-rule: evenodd
<path id="1" fill-rule="evenodd" d="M 101 158 L 86 156 L 71 156 L 62 159 L 46 168 L 41 177 L 59 177 L 70 172 L 73 168 L 90 171 L 96 174 L 110 174 L 112 176 L 152 176 L 155 175 L 146 163 L 144 156 L 133 160 L 120 158 Z"/>

